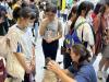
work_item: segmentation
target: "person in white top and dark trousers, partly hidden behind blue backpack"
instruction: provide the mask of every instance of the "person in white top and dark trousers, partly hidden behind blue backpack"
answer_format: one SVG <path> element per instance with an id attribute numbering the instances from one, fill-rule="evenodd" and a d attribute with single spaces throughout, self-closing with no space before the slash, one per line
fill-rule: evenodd
<path id="1" fill-rule="evenodd" d="M 75 23 L 75 20 L 76 20 L 76 11 L 77 11 L 77 7 L 74 5 L 68 16 L 68 22 L 66 22 L 66 25 L 65 25 L 65 28 L 64 28 L 64 36 L 66 34 L 69 34 L 70 32 L 73 31 L 73 24 Z M 65 47 L 65 43 L 63 42 L 63 46 Z M 71 57 L 70 55 L 66 52 L 64 56 L 63 56 L 63 65 L 64 65 L 64 69 L 66 69 L 68 67 L 70 67 L 72 63 L 72 60 L 71 60 Z"/>

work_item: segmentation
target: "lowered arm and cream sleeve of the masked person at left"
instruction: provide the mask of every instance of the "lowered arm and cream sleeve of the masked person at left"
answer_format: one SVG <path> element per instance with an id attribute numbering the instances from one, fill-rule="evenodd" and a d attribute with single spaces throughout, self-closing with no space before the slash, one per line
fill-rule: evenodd
<path id="1" fill-rule="evenodd" d="M 17 38 L 16 38 L 17 37 Z M 29 73 L 31 67 L 26 63 L 25 55 L 22 52 L 22 45 L 19 44 L 19 36 L 15 33 L 9 34 L 8 38 L 10 39 L 10 49 L 13 55 L 16 57 L 17 61 L 24 68 L 24 70 Z"/>

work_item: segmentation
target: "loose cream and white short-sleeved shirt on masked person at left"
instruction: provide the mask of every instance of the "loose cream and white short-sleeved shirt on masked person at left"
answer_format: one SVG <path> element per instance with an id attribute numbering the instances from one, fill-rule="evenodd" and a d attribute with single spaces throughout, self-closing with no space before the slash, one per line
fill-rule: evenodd
<path id="1" fill-rule="evenodd" d="M 10 39 L 11 52 L 7 58 L 7 70 L 14 78 L 24 79 L 25 70 L 19 62 L 13 52 L 22 52 L 22 57 L 26 59 L 26 62 L 32 61 L 33 56 L 33 44 L 26 34 L 26 30 L 22 31 L 17 27 L 17 24 L 9 28 L 8 38 Z"/>

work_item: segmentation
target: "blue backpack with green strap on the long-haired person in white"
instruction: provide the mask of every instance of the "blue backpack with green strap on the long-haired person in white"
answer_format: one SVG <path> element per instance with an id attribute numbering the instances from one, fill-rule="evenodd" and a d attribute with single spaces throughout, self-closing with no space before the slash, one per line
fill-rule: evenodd
<path id="1" fill-rule="evenodd" d="M 71 48 L 72 45 L 74 44 L 83 44 L 83 32 L 82 32 L 82 40 L 80 40 L 76 30 L 84 23 L 86 23 L 86 21 L 80 23 L 73 31 L 71 31 L 71 33 L 65 35 L 64 44 L 66 48 Z M 84 45 L 87 46 L 87 44 Z"/>

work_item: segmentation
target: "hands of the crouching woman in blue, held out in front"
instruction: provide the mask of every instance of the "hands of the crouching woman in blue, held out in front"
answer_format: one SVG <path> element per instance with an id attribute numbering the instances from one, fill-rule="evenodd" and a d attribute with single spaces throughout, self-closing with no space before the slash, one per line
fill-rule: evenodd
<path id="1" fill-rule="evenodd" d="M 53 71 L 55 73 L 57 73 L 60 70 L 60 67 L 56 61 L 50 60 L 47 65 L 47 69 Z"/>

